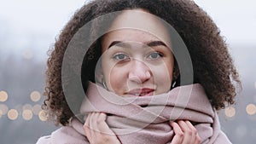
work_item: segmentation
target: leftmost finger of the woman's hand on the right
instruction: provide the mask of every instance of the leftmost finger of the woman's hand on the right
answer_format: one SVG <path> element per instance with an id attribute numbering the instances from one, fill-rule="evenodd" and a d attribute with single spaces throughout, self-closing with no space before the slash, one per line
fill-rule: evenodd
<path id="1" fill-rule="evenodd" d="M 174 132 L 174 136 L 171 144 L 180 144 L 183 141 L 183 131 L 180 129 L 179 125 L 175 122 L 170 123 Z"/>

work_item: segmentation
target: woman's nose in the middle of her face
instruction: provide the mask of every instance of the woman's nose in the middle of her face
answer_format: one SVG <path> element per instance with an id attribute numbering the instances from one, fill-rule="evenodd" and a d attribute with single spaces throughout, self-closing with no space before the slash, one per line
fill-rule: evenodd
<path id="1" fill-rule="evenodd" d="M 143 84 L 149 78 L 151 78 L 151 72 L 149 67 L 146 66 L 143 61 L 133 60 L 128 77 L 129 80 L 132 82 L 136 82 L 137 84 Z"/>

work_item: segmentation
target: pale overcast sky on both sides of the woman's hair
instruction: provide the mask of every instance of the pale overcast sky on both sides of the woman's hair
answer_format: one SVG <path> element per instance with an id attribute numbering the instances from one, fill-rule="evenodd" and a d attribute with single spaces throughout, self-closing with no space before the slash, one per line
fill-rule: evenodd
<path id="1" fill-rule="evenodd" d="M 84 0 L 0 0 L 0 54 L 46 60 L 63 26 Z M 256 46 L 256 1 L 195 0 L 230 45 Z"/>

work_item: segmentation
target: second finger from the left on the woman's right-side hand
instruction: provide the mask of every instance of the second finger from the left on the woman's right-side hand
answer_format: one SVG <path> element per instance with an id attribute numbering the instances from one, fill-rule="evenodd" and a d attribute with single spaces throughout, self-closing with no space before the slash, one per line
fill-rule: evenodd
<path id="1" fill-rule="evenodd" d="M 195 141 L 195 136 L 193 137 L 192 130 L 190 130 L 187 123 L 185 123 L 183 120 L 179 120 L 177 124 L 180 126 L 181 130 L 183 130 L 183 143 L 189 144 L 191 141 Z"/>

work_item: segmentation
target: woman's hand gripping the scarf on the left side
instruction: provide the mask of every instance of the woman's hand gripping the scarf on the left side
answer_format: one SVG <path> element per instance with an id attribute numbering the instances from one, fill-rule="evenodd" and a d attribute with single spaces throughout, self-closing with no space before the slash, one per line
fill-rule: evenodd
<path id="1" fill-rule="evenodd" d="M 107 114 L 90 112 L 84 123 L 84 131 L 91 144 L 120 144 L 117 136 L 106 123 Z"/>

